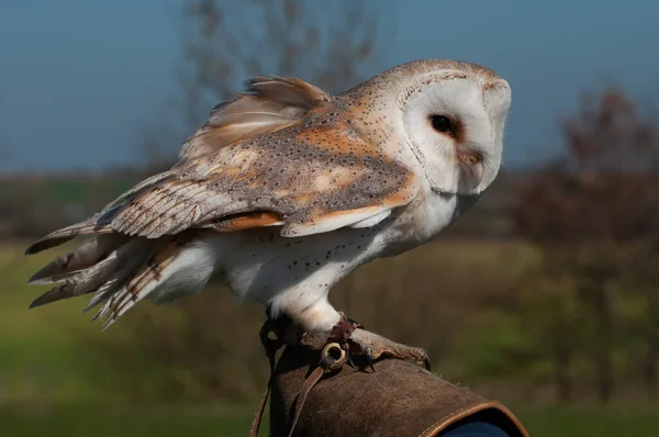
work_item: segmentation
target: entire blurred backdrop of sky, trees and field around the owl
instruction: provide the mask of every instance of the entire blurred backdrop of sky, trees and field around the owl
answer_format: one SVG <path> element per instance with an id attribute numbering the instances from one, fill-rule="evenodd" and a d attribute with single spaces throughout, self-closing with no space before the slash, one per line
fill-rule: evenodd
<path id="1" fill-rule="evenodd" d="M 513 89 L 504 168 L 435 243 L 331 294 L 534 436 L 659 428 L 659 2 L 0 2 L 2 435 L 244 435 L 263 309 L 210 284 L 101 334 L 87 302 L 27 311 L 23 257 L 171 165 L 253 75 L 340 92 L 425 57 Z M 66 251 L 67 247 L 58 249 Z"/>

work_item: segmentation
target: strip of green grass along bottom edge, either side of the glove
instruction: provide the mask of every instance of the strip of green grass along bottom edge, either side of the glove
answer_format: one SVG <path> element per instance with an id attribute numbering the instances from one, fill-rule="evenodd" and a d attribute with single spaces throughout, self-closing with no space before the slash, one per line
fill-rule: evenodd
<path id="1" fill-rule="evenodd" d="M 254 402 L 256 405 L 256 401 Z M 238 436 L 252 424 L 254 405 L 167 407 L 120 411 L 89 406 L 59 406 L 42 411 L 0 410 L 3 436 L 143 437 L 148 436 Z M 533 437 L 654 436 L 659 429 L 657 410 L 521 407 L 515 410 Z M 267 425 L 261 435 L 267 435 Z"/>

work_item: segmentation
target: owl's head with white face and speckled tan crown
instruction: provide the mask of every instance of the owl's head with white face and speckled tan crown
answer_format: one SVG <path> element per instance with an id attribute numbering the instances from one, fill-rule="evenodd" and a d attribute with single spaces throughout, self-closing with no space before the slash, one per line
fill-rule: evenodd
<path id="1" fill-rule="evenodd" d="M 494 180 L 511 88 L 492 70 L 461 61 L 418 60 L 384 71 L 360 88 L 349 93 L 375 102 L 366 110 L 369 128 L 378 117 L 386 120 L 376 128 L 388 130 L 388 138 L 412 152 L 433 191 L 478 194 Z"/>

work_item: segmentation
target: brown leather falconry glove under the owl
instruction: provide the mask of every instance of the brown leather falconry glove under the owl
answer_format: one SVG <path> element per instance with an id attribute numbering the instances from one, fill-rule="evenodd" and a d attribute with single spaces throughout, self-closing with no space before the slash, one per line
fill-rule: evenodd
<path id="1" fill-rule="evenodd" d="M 270 435 L 287 436 L 304 379 L 320 360 L 325 337 L 288 346 L 272 378 Z M 313 365 L 310 366 L 309 363 Z M 439 436 L 455 424 L 488 422 L 510 436 L 528 436 L 502 404 L 488 401 L 398 359 L 376 362 L 376 372 L 344 366 L 325 376 L 303 404 L 294 436 Z"/>

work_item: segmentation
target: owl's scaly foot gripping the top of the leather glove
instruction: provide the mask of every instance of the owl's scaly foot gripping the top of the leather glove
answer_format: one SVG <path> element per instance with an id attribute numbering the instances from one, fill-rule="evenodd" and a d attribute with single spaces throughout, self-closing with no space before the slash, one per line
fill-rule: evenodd
<path id="1" fill-rule="evenodd" d="M 354 359 L 364 357 L 366 365 L 373 371 L 373 361 L 381 357 L 412 361 L 431 370 L 431 359 L 422 348 L 402 345 L 362 328 L 357 328 L 350 334 L 349 344 L 350 361 L 354 362 Z"/>

